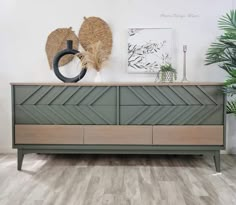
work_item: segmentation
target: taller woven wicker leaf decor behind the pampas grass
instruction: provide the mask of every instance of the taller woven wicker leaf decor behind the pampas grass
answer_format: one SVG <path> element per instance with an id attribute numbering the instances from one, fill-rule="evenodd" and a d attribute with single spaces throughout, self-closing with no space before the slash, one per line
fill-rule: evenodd
<path id="1" fill-rule="evenodd" d="M 107 57 L 112 50 L 112 32 L 108 24 L 98 17 L 84 17 L 84 22 L 79 30 L 79 42 L 85 51 L 90 51 L 91 46 L 99 41 Z"/>

